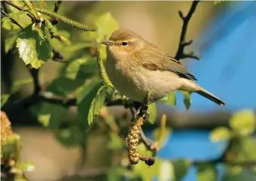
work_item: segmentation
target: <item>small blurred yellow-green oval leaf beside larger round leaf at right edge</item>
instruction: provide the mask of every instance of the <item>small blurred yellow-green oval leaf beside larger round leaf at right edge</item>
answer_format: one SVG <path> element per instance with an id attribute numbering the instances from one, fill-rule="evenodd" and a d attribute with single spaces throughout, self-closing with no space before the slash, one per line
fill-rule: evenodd
<path id="1" fill-rule="evenodd" d="M 224 126 L 213 129 L 210 135 L 212 142 L 227 140 L 230 137 L 231 137 L 230 129 L 227 129 Z"/>

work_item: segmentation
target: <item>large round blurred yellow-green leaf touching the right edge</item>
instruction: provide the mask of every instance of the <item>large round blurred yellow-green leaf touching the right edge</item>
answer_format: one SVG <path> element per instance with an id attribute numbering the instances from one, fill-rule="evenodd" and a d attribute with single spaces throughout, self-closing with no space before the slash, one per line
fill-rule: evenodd
<path id="1" fill-rule="evenodd" d="M 250 135 L 256 127 L 254 111 L 236 112 L 230 119 L 230 127 L 239 135 Z"/>

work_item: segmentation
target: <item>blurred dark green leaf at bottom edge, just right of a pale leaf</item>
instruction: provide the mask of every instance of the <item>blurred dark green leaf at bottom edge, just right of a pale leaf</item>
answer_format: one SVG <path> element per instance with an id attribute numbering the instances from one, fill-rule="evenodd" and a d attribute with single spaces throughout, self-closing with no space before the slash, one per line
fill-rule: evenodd
<path id="1" fill-rule="evenodd" d="M 174 168 L 174 176 L 176 181 L 182 180 L 183 177 L 188 172 L 188 168 L 191 165 L 191 162 L 189 162 L 186 159 L 177 159 L 172 162 L 173 163 L 173 168 Z"/>

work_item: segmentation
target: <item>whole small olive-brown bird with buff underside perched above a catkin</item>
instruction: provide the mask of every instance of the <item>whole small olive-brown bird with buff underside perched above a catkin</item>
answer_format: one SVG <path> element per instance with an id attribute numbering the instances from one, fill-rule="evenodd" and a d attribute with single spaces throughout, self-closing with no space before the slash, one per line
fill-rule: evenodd
<path id="1" fill-rule="evenodd" d="M 119 29 L 113 32 L 107 45 L 106 71 L 114 87 L 123 95 L 143 102 L 149 92 L 149 102 L 155 102 L 171 91 L 199 93 L 218 105 L 225 103 L 201 88 L 197 79 L 152 43 L 133 31 Z"/>

